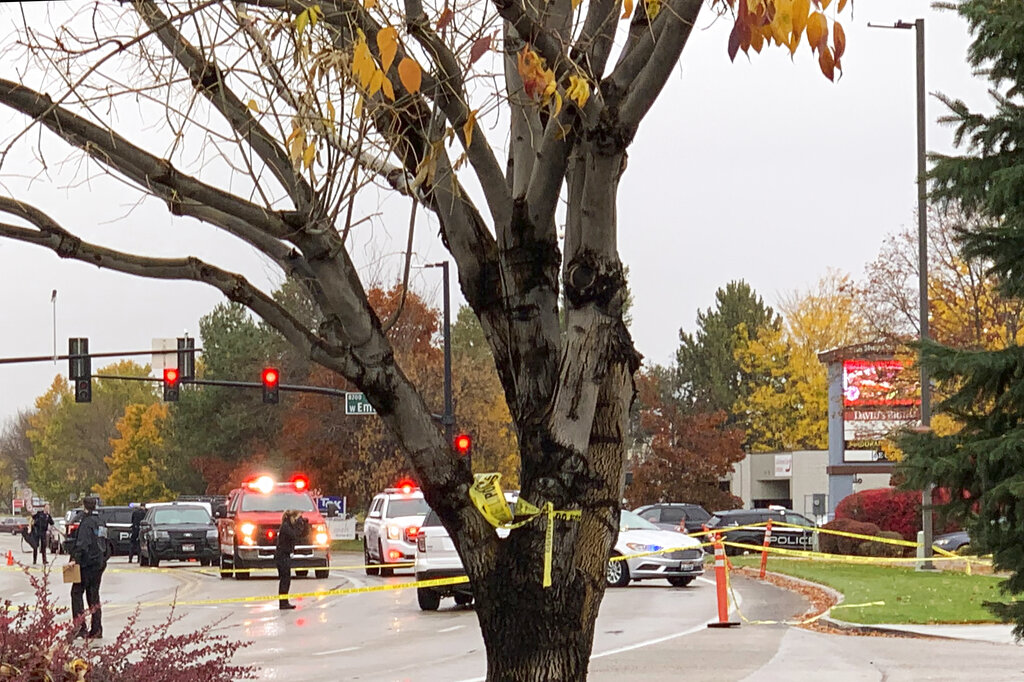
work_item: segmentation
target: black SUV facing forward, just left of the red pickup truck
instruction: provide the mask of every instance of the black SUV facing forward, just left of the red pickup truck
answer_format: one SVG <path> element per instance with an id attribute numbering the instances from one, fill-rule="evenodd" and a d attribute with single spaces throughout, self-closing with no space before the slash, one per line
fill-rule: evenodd
<path id="1" fill-rule="evenodd" d="M 220 556 L 217 524 L 206 507 L 195 503 L 173 502 L 147 509 L 139 543 L 138 561 L 143 566 L 189 559 L 209 566 Z"/>

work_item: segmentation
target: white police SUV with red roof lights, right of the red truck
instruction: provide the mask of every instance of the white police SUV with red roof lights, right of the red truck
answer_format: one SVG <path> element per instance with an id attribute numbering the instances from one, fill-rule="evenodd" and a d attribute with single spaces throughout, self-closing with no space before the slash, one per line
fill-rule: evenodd
<path id="1" fill-rule="evenodd" d="M 416 559 L 416 540 L 429 511 L 423 492 L 412 481 L 400 481 L 374 496 L 362 523 L 362 560 L 368 576 L 390 576 L 394 567 L 381 564 Z"/>

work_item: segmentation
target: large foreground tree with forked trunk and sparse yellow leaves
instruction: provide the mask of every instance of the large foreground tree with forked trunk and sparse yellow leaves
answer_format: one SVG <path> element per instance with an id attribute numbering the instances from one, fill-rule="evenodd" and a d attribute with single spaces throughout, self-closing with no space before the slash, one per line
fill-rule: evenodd
<path id="1" fill-rule="evenodd" d="M 175 220 L 233 236 L 302 283 L 319 323 L 214 263 L 82 240 L 76 225 L 17 197 L 0 197 L 16 223 L 0 223 L 0 237 L 205 283 L 357 386 L 459 548 L 487 677 L 584 679 L 639 366 L 623 322 L 618 181 L 706 0 L 72 4 L 85 31 L 40 22 L 4 46 L 5 59 L 20 50 L 27 65 L 45 67 L 0 79 L 0 103 L 31 129 L 25 143 L 63 142 Z M 845 0 L 707 4 L 732 23 L 723 49 L 733 56 L 806 43 L 826 77 L 841 68 Z M 144 133 L 119 117 L 135 102 L 156 114 Z M 504 146 L 488 135 L 495 128 L 509 132 Z M 42 163 L 52 147 L 24 156 Z M 404 198 L 393 205 L 409 209 L 410 231 L 429 216 L 458 266 L 515 425 L 521 496 L 581 511 L 579 520 L 539 517 L 502 540 L 470 501 L 469 468 L 397 360 L 351 258 L 352 233 L 375 220 L 376 203 L 360 198 L 378 193 Z"/>

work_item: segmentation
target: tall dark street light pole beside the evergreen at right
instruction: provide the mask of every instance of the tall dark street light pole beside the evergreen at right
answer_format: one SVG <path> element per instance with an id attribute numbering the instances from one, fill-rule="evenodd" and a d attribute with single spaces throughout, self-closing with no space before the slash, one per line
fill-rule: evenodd
<path id="1" fill-rule="evenodd" d="M 873 26 L 868 24 L 868 26 Z M 920 336 L 924 342 L 929 338 L 928 329 L 928 167 L 926 165 L 925 128 L 928 118 L 925 115 L 925 19 L 919 18 L 912 24 L 896 22 L 893 29 L 913 29 L 918 38 L 918 297 L 921 305 L 919 310 Z M 919 358 L 920 360 L 920 358 Z M 928 430 L 932 424 L 932 387 L 925 364 L 921 366 L 921 428 Z M 929 483 L 921 493 L 921 528 L 924 559 L 918 564 L 919 570 L 935 570 L 932 563 L 932 540 L 935 528 L 932 525 L 932 493 L 935 485 Z"/>

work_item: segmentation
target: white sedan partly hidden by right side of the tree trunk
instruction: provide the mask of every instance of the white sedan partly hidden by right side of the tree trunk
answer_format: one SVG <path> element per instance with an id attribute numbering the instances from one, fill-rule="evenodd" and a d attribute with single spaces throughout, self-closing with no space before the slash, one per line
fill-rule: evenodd
<path id="1" fill-rule="evenodd" d="M 664 530 L 625 509 L 618 519 L 618 541 L 608 561 L 608 587 L 658 579 L 674 587 L 685 587 L 703 574 L 703 550 L 693 538 Z"/>

